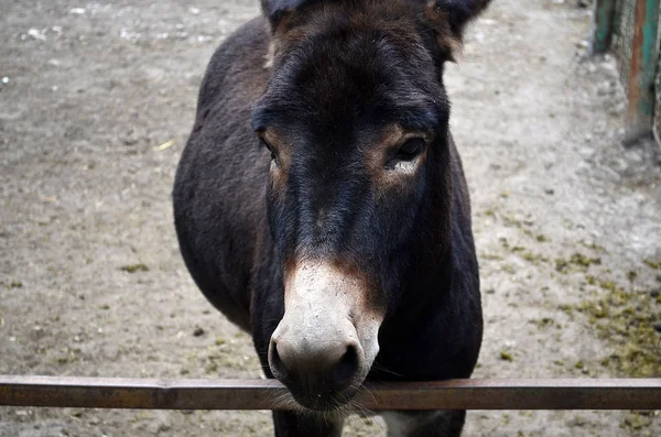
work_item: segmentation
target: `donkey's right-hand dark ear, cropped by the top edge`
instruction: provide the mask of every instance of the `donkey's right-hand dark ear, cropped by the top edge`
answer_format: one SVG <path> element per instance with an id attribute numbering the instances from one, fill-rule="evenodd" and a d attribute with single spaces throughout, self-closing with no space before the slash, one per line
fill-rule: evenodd
<path id="1" fill-rule="evenodd" d="M 436 34 L 441 47 L 453 59 L 462 48 L 466 24 L 487 8 L 491 0 L 430 0 L 425 17 Z"/>

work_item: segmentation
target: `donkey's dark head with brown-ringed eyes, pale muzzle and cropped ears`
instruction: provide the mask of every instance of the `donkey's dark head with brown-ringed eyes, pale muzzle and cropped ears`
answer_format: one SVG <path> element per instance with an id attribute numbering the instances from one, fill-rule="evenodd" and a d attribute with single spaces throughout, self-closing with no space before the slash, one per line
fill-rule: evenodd
<path id="1" fill-rule="evenodd" d="M 268 214 L 285 303 L 269 363 L 307 408 L 355 394 L 412 274 L 430 274 L 425 263 L 448 248 L 441 72 L 486 2 L 473 3 L 263 2 L 272 77 L 252 122 L 271 153 Z"/>

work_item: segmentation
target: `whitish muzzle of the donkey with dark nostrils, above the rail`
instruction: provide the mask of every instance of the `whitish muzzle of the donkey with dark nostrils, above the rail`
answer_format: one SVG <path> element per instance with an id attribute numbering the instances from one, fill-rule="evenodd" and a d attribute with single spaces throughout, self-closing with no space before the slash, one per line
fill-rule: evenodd
<path id="1" fill-rule="evenodd" d="M 382 316 L 355 271 L 300 262 L 288 272 L 284 315 L 271 336 L 271 372 L 304 407 L 342 407 L 369 373 L 379 351 Z"/>

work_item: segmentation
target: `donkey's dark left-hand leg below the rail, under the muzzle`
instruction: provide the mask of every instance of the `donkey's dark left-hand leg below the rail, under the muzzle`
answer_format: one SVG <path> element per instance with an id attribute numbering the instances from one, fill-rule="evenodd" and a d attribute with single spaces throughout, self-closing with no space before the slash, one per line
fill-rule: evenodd
<path id="1" fill-rule="evenodd" d="M 293 412 L 273 412 L 275 437 L 339 437 L 343 419 L 325 419 Z"/>

